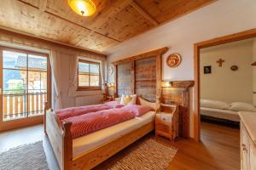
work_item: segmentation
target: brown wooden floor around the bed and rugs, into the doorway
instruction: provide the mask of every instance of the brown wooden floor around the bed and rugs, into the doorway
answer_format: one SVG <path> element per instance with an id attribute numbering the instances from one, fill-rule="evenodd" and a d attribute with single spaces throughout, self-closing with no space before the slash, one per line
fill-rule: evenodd
<path id="1" fill-rule="evenodd" d="M 170 144 L 166 139 L 157 139 Z M 49 140 L 44 136 L 43 125 L 0 133 L 0 152 L 38 140 L 43 140 L 49 168 L 58 170 Z M 202 122 L 201 143 L 190 139 L 178 139 L 176 143 L 172 143 L 179 150 L 168 169 L 240 169 L 239 140 L 239 129 Z"/>

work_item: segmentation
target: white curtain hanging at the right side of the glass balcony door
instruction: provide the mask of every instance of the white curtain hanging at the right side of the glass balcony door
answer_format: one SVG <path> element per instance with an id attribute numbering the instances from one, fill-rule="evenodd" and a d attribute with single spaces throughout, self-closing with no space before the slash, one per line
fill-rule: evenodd
<path id="1" fill-rule="evenodd" d="M 51 50 L 50 52 L 50 66 L 54 82 L 55 95 L 53 108 L 58 110 L 62 108 L 61 105 L 61 54 L 56 50 Z"/>

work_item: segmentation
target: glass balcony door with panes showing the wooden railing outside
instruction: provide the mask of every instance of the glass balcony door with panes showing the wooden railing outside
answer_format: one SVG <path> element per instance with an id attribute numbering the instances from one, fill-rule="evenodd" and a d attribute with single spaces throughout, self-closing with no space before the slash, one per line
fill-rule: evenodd
<path id="1" fill-rule="evenodd" d="M 44 114 L 50 99 L 49 56 L 13 48 L 1 50 L 2 122 Z"/>

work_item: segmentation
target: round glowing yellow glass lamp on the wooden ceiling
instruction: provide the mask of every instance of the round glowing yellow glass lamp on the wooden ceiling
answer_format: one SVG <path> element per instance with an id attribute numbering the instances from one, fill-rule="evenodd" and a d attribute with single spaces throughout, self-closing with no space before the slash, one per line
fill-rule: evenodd
<path id="1" fill-rule="evenodd" d="M 73 11 L 82 16 L 90 16 L 95 13 L 96 6 L 92 0 L 68 0 Z"/>

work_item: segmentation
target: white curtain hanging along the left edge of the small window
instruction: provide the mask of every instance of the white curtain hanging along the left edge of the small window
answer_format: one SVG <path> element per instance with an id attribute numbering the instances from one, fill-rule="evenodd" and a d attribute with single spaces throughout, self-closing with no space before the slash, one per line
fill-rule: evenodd
<path id="1" fill-rule="evenodd" d="M 69 63 L 69 74 L 70 74 L 70 87 L 68 88 L 68 96 L 75 97 L 78 86 L 78 66 L 79 57 L 72 55 Z"/>

